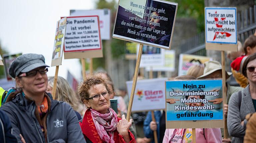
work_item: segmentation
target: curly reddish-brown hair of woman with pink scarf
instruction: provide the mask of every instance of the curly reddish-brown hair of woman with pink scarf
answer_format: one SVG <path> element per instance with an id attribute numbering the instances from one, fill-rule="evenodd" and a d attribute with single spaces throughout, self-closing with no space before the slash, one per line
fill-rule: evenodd
<path id="1" fill-rule="evenodd" d="M 89 90 L 91 87 L 97 84 L 103 84 L 106 87 L 107 91 L 109 91 L 106 80 L 103 79 L 100 75 L 92 75 L 86 77 L 84 81 L 80 83 L 77 89 L 77 94 L 80 97 L 82 103 L 84 100 L 90 98 Z"/>

